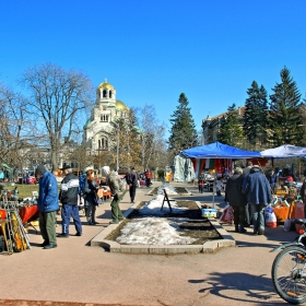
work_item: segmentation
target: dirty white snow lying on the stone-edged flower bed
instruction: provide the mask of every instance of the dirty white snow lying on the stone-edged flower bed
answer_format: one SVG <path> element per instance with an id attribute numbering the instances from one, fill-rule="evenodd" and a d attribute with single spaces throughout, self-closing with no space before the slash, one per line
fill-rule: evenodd
<path id="1" fill-rule="evenodd" d="M 196 239 L 180 236 L 176 231 L 179 228 L 178 223 L 187 221 L 186 219 L 161 217 L 169 213 L 167 202 L 161 211 L 163 199 L 163 195 L 157 195 L 148 201 L 139 210 L 143 217 L 128 222 L 121 228 L 121 236 L 117 238 L 117 243 L 127 245 L 189 245 L 193 243 Z M 170 205 L 174 213 L 183 213 L 187 210 L 187 208 L 178 208 L 176 201 L 170 201 Z"/>

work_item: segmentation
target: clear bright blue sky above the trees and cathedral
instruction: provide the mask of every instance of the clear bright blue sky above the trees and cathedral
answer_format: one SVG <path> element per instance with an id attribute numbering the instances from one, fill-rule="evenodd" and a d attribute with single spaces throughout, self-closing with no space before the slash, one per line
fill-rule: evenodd
<path id="1" fill-rule="evenodd" d="M 180 93 L 200 129 L 269 94 L 286 66 L 305 97 L 306 2 L 297 0 L 0 0 L 0 81 L 52 62 L 107 78 L 129 107 L 154 105 L 168 128 Z"/>

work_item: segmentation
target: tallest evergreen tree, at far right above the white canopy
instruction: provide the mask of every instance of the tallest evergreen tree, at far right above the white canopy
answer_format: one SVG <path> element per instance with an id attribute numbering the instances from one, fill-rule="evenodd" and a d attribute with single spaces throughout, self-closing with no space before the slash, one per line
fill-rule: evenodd
<path id="1" fill-rule="evenodd" d="M 274 146 L 301 145 L 303 143 L 302 116 L 298 111 L 301 93 L 286 67 L 281 70 L 280 75 L 282 82 L 276 83 L 272 89 L 274 93 L 270 95 L 269 141 Z"/>

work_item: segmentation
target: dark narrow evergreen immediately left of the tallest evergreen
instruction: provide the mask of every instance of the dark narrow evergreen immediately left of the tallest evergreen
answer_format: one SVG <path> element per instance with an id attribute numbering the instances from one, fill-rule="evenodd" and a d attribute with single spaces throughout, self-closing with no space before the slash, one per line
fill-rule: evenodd
<path id="1" fill-rule="evenodd" d="M 257 149 L 257 146 L 261 149 L 267 143 L 267 91 L 262 85 L 259 87 L 254 81 L 251 87 L 247 90 L 247 94 L 243 121 L 244 136 L 252 149 Z"/>

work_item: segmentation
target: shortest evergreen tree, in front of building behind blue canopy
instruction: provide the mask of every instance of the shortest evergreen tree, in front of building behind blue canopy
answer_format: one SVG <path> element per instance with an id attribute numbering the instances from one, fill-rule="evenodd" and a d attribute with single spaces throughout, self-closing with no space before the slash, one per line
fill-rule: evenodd
<path id="1" fill-rule="evenodd" d="M 243 129 L 239 123 L 236 105 L 233 104 L 227 108 L 226 115 L 221 119 L 217 141 L 233 146 L 242 146 L 239 145 L 239 143 L 242 143 L 242 140 Z"/>

